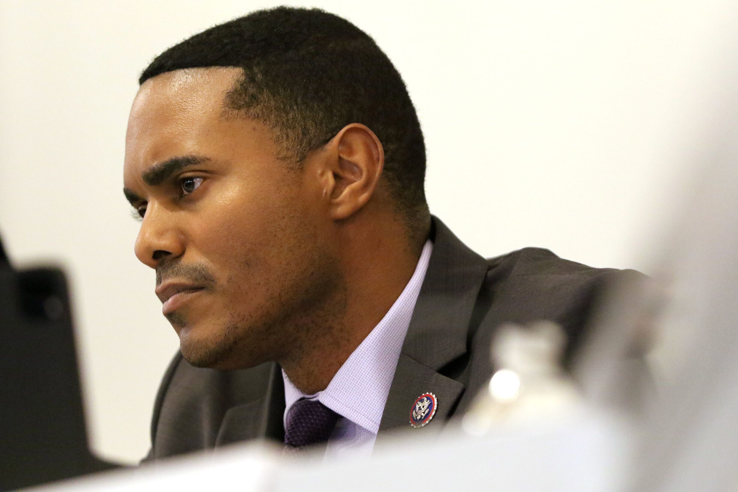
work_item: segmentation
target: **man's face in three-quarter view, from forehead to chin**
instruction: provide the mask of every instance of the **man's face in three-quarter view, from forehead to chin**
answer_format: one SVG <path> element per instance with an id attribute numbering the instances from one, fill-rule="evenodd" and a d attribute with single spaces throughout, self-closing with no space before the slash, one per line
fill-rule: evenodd
<path id="1" fill-rule="evenodd" d="M 143 215 L 136 255 L 156 268 L 184 358 L 221 369 L 278 358 L 300 336 L 295 317 L 340 283 L 311 167 L 280 161 L 265 125 L 225 116 L 238 72 L 147 80 L 125 145 L 126 195 Z"/>

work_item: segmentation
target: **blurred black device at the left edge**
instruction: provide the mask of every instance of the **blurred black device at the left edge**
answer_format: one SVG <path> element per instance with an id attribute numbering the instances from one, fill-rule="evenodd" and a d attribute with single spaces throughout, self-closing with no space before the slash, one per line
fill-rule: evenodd
<path id="1" fill-rule="evenodd" d="M 0 243 L 0 491 L 113 468 L 89 451 L 64 274 Z"/>

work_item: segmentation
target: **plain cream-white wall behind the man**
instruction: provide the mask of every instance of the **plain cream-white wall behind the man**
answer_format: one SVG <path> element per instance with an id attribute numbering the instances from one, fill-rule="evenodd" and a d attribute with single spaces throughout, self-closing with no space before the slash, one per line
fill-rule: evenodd
<path id="1" fill-rule="evenodd" d="M 106 457 L 145 454 L 177 347 L 121 193 L 137 77 L 182 38 L 276 4 L 0 0 L 0 233 L 18 265 L 69 274 Z M 646 271 L 738 32 L 729 0 L 306 5 L 354 21 L 394 61 L 426 135 L 432 212 L 469 246 Z"/>

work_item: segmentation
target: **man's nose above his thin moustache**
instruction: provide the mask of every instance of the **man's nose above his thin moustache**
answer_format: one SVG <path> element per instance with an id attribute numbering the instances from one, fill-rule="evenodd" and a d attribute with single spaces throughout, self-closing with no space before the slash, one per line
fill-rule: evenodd
<path id="1" fill-rule="evenodd" d="M 176 216 L 163 207 L 149 203 L 134 247 L 141 263 L 156 268 L 166 258 L 184 254 L 184 235 Z"/>

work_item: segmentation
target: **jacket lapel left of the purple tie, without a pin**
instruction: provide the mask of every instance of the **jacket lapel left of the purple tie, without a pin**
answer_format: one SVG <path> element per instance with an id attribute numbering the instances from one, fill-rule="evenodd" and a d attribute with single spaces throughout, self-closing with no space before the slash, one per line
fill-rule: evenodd
<path id="1" fill-rule="evenodd" d="M 250 439 L 284 442 L 284 381 L 278 364 L 272 364 L 269 385 L 263 398 L 233 406 L 223 417 L 215 446 Z"/>

